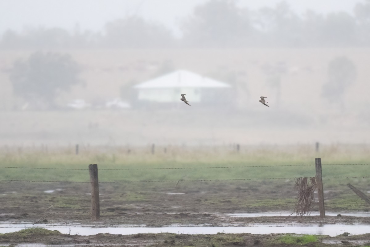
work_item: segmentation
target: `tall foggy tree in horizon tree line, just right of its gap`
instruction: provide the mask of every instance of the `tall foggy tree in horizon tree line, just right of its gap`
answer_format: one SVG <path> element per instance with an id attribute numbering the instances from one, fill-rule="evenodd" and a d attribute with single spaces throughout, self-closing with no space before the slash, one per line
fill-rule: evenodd
<path id="1" fill-rule="evenodd" d="M 228 47 L 250 43 L 253 28 L 248 10 L 240 10 L 233 0 L 210 0 L 195 7 L 182 24 L 185 46 Z"/>

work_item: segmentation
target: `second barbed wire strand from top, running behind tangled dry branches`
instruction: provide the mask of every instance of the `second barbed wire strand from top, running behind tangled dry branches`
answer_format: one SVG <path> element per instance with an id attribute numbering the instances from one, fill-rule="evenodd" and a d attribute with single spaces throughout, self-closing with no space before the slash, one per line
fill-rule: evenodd
<path id="1" fill-rule="evenodd" d="M 154 180 L 154 181 L 100 181 L 99 183 L 164 183 L 164 182 L 206 182 L 206 181 L 240 181 L 240 180 L 273 180 L 273 179 L 295 179 L 296 177 L 275 177 L 275 178 L 229 178 L 229 179 L 197 179 L 197 180 Z M 370 176 L 329 176 L 323 178 L 370 178 Z M 43 181 L 43 180 L 10 180 L 0 181 L 18 182 L 40 182 L 40 183 L 91 183 L 86 181 Z"/>

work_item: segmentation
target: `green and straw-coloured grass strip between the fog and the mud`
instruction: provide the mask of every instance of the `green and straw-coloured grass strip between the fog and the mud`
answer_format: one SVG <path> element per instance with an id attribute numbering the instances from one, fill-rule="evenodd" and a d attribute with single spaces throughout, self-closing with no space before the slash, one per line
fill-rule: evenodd
<path id="1" fill-rule="evenodd" d="M 106 182 L 313 177 L 316 157 L 322 158 L 323 177 L 370 176 L 367 165 L 358 165 L 370 163 L 370 146 L 366 145 L 333 144 L 321 147 L 319 152 L 310 145 L 243 146 L 240 151 L 235 146 L 155 146 L 154 153 L 151 145 L 80 146 L 78 154 L 75 153 L 75 146 L 45 148 L 3 147 L 0 151 L 1 166 L 51 169 L 28 169 L 23 174 L 15 168 L 7 168 L 1 172 L 1 178 L 18 179 L 24 176 L 26 180 L 88 181 L 84 170 L 70 174 L 52 169 L 87 170 L 88 164 L 98 164 L 102 169 L 101 181 Z"/>

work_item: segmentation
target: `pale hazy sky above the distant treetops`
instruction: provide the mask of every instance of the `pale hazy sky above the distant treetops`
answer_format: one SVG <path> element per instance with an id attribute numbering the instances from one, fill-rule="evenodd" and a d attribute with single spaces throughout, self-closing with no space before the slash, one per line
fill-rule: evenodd
<path id="1" fill-rule="evenodd" d="M 62 27 L 73 30 L 101 30 L 105 23 L 138 14 L 148 20 L 163 23 L 173 29 L 192 13 L 194 6 L 208 0 L 0 0 L 0 34 L 7 29 L 20 31 L 23 27 Z M 236 0 L 239 6 L 251 10 L 274 6 L 281 0 Z M 327 13 L 352 13 L 357 2 L 364 0 L 286 0 L 293 10 L 306 9 Z"/>

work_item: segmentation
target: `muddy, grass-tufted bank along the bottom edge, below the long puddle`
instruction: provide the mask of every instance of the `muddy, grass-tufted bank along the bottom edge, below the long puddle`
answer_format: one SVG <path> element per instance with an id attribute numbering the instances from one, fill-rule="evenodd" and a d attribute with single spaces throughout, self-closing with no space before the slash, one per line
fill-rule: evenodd
<path id="1" fill-rule="evenodd" d="M 336 237 L 317 236 L 313 243 L 302 243 L 301 235 L 290 234 L 293 243 L 284 243 L 287 234 L 96 234 L 90 236 L 61 234 L 42 228 L 29 228 L 0 235 L 4 246 L 369 246 L 370 234 Z"/>

